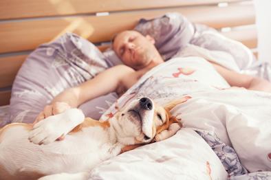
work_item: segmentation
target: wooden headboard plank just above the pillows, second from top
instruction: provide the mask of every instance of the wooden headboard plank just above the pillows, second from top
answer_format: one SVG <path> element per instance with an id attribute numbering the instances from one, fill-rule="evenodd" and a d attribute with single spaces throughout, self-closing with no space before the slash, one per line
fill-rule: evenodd
<path id="1" fill-rule="evenodd" d="M 132 29 L 141 17 L 153 18 L 165 12 L 182 12 L 195 23 L 204 23 L 215 28 L 254 23 L 253 6 L 250 4 L 232 5 L 225 8 L 193 6 L 125 12 L 125 15 L 115 13 L 109 16 L 80 16 L 0 23 L 0 53 L 31 50 L 41 43 L 52 41 L 65 32 L 74 32 L 93 43 L 109 41 L 113 34 Z"/>

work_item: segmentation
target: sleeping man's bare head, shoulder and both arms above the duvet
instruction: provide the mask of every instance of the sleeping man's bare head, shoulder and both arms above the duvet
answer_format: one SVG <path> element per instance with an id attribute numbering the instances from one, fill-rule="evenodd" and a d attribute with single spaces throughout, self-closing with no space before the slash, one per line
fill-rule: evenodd
<path id="1" fill-rule="evenodd" d="M 61 113 L 67 108 L 77 107 L 100 95 L 113 91 L 122 95 L 147 71 L 164 63 L 154 43 L 154 39 L 149 35 L 143 36 L 135 31 L 121 32 L 113 39 L 113 50 L 124 65 L 111 67 L 78 87 L 66 89 L 57 95 L 50 105 L 45 106 L 35 122 Z M 267 80 L 239 74 L 215 63 L 212 65 L 231 87 L 271 92 L 271 83 Z"/>

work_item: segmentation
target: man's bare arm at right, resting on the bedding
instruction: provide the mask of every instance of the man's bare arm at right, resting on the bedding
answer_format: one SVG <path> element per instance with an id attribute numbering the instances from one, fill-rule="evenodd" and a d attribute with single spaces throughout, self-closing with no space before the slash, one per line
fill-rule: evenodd
<path id="1" fill-rule="evenodd" d="M 271 92 L 271 83 L 268 80 L 246 74 L 239 74 L 217 64 L 213 64 L 213 66 L 232 87 L 244 87 L 250 90 Z"/>

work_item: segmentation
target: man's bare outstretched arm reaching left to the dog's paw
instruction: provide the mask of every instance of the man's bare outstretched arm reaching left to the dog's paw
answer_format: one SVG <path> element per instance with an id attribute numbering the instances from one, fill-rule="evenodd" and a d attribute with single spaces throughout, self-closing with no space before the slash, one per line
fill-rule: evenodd
<path id="1" fill-rule="evenodd" d="M 118 65 L 103 71 L 78 87 L 66 89 L 58 94 L 51 104 L 45 106 L 44 110 L 36 117 L 35 123 L 50 115 L 62 113 L 66 109 L 78 107 L 87 100 L 116 91 L 120 86 L 120 82 L 122 82 L 122 78 L 133 71 L 133 69 L 125 65 Z"/>

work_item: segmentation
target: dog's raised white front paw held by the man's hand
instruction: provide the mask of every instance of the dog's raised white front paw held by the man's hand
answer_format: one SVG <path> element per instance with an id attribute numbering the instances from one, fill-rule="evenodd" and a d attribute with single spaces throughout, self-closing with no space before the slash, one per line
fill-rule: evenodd
<path id="1" fill-rule="evenodd" d="M 36 123 L 28 139 L 34 144 L 50 144 L 58 137 L 66 135 L 83 122 L 85 116 L 80 109 L 67 109 L 58 115 L 52 115 Z"/>

